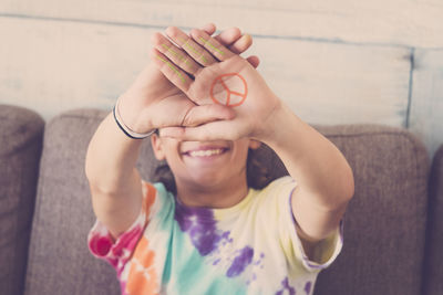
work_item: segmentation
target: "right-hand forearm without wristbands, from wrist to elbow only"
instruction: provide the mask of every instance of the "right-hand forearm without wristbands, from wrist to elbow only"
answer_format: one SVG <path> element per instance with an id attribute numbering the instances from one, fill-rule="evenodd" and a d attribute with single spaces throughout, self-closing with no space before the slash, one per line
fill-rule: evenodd
<path id="1" fill-rule="evenodd" d="M 272 148 L 299 187 L 320 208 L 337 210 L 353 194 L 353 176 L 340 150 L 285 104 L 268 119 L 261 141 Z"/>

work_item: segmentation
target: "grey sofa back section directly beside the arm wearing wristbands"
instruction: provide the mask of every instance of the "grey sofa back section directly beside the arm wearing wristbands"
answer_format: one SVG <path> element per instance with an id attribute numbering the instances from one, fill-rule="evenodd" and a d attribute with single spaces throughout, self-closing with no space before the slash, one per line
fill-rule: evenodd
<path id="1" fill-rule="evenodd" d="M 24 294 L 120 294 L 112 267 L 86 245 L 94 217 L 84 159 L 102 118 L 74 112 L 47 124 Z"/>

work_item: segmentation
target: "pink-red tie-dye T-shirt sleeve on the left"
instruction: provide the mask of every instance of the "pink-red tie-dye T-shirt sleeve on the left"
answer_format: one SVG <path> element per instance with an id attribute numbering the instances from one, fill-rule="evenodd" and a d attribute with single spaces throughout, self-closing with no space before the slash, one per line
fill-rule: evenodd
<path id="1" fill-rule="evenodd" d="M 156 189 L 151 183 L 142 180 L 143 202 L 138 217 L 134 223 L 116 240 L 113 239 L 107 228 L 96 220 L 87 235 L 90 252 L 97 259 L 107 261 L 120 274 L 131 259 L 144 229 L 153 215 L 153 204 L 156 200 Z"/>

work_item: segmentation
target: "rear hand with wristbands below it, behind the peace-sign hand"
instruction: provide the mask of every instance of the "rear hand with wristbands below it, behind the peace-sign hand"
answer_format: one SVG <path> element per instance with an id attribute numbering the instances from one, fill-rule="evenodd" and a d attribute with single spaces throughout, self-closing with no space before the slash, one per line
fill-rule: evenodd
<path id="1" fill-rule="evenodd" d="M 207 34 L 213 34 L 216 28 L 214 24 L 207 24 L 203 30 Z M 155 42 L 155 35 L 153 39 Z M 251 44 L 250 36 L 241 36 L 237 28 L 228 29 L 215 39 L 238 53 L 246 51 Z M 248 57 L 248 61 L 253 66 L 257 66 L 259 63 L 256 56 Z M 132 130 L 141 134 L 153 128 L 196 126 L 234 116 L 234 113 L 227 107 L 198 106 L 189 101 L 153 63 L 150 63 L 141 72 L 120 97 L 120 114 Z"/>

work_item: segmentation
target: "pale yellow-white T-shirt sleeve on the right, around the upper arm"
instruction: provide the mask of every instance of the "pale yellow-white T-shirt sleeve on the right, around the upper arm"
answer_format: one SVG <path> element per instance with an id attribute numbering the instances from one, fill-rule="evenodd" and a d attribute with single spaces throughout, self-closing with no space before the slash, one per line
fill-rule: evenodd
<path id="1" fill-rule="evenodd" d="M 292 213 L 291 197 L 297 182 L 289 176 L 276 180 L 272 191 L 278 215 L 280 245 L 289 263 L 301 263 L 308 272 L 319 272 L 327 268 L 340 254 L 343 245 L 343 221 L 327 239 L 319 242 L 313 250 L 313 260 L 305 253 L 301 240 L 297 234 L 297 221 Z"/>

